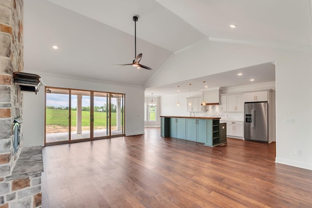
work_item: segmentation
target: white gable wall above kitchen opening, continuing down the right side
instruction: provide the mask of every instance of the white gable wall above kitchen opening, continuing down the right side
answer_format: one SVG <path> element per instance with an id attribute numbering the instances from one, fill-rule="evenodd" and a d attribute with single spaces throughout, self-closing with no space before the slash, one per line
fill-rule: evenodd
<path id="1" fill-rule="evenodd" d="M 145 87 L 275 61 L 276 162 L 312 170 L 311 57 L 312 49 L 299 51 L 206 41 L 177 53 Z M 293 118 L 294 123 L 284 123 L 285 118 Z M 300 156 L 295 155 L 295 149 L 301 150 Z"/>

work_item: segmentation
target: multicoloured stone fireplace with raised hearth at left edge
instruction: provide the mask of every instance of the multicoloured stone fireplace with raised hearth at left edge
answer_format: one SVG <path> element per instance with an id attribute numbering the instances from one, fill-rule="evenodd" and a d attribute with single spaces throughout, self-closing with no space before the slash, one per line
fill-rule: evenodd
<path id="1" fill-rule="evenodd" d="M 37 208 L 42 153 L 41 147 L 23 147 L 23 95 L 15 71 L 23 71 L 23 0 L 0 0 L 0 208 Z"/>

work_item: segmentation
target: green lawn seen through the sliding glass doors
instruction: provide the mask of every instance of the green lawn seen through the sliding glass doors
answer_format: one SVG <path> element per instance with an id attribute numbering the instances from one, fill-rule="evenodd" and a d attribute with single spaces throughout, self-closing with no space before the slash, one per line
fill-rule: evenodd
<path id="1" fill-rule="evenodd" d="M 72 126 L 76 126 L 77 113 L 72 110 Z M 116 126 L 116 113 L 112 113 L 112 124 Z M 68 110 L 46 109 L 46 125 L 68 126 Z M 82 126 L 90 126 L 90 112 L 82 111 Z M 106 126 L 106 112 L 94 112 L 94 126 Z"/>

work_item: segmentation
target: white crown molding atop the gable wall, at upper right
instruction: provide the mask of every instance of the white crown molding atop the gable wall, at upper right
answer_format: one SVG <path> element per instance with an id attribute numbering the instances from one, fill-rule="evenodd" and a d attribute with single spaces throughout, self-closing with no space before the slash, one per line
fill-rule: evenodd
<path id="1" fill-rule="evenodd" d="M 243 45 L 287 49 L 287 50 L 293 50 L 293 51 L 312 52 L 312 46 L 291 45 L 291 44 L 286 44 L 286 43 L 275 43 L 275 42 L 264 42 L 264 41 L 257 42 L 257 41 L 249 41 L 249 40 L 233 40 L 233 39 L 224 39 L 224 38 L 217 38 L 217 37 L 209 37 L 209 40 L 215 41 L 215 42 L 235 43 L 235 44 L 243 44 Z"/>

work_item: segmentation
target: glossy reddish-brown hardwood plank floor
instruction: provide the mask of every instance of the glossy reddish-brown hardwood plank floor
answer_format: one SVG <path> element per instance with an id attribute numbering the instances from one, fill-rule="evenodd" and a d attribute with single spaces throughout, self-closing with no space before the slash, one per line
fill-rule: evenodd
<path id="1" fill-rule="evenodd" d="M 44 147 L 42 207 L 312 208 L 312 171 L 275 163 L 275 143 L 159 135 Z"/>

